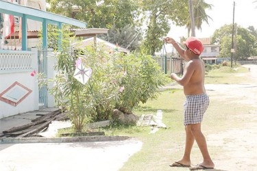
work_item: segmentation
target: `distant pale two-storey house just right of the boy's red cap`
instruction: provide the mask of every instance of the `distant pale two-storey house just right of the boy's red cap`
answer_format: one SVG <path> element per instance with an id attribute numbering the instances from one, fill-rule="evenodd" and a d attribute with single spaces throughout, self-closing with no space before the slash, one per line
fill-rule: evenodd
<path id="1" fill-rule="evenodd" d="M 199 38 L 204 45 L 201 58 L 205 64 L 217 64 L 219 55 L 219 44 L 210 44 L 211 38 Z"/>

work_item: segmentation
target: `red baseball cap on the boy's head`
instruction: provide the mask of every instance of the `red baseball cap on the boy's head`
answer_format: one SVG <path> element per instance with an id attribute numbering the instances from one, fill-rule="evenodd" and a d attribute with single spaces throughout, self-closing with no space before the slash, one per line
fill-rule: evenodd
<path id="1" fill-rule="evenodd" d="M 186 39 L 186 42 L 184 42 L 184 44 L 186 44 L 186 47 L 191 49 L 191 51 L 193 51 L 197 55 L 200 55 L 204 51 L 204 46 L 201 43 L 201 40 L 199 40 L 198 38 L 190 37 Z"/>

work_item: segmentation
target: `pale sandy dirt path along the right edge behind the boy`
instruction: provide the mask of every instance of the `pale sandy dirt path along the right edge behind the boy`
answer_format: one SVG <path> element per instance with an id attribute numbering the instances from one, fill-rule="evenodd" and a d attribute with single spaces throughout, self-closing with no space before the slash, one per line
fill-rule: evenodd
<path id="1" fill-rule="evenodd" d="M 245 67 L 250 68 L 250 72 L 240 75 L 248 77 L 245 79 L 248 81 L 242 84 L 206 85 L 210 99 L 227 99 L 224 105 L 228 107 L 235 102 L 249 106 L 249 111 L 245 111 L 242 116 L 235 116 L 242 117 L 240 127 L 235 125 L 206 137 L 210 148 L 219 149 L 219 159 L 215 159 L 217 170 L 257 170 L 257 65 Z"/>

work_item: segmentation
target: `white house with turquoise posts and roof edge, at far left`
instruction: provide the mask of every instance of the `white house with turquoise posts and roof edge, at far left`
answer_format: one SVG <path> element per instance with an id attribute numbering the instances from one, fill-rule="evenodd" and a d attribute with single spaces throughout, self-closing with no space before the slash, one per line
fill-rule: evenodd
<path id="1" fill-rule="evenodd" d="M 39 0 L 23 2 L 25 4 L 31 2 L 41 6 L 41 3 L 38 3 L 40 2 Z M 40 98 L 44 100 L 44 105 L 47 107 L 54 107 L 53 97 L 48 96 L 46 88 L 39 90 L 37 79 L 32 77 L 34 70 L 38 72 L 40 68 L 47 75 L 47 78 L 53 77 L 52 63 L 54 60 L 51 57 L 47 57 L 46 54 L 47 25 L 57 25 L 58 29 L 62 29 L 62 24 L 85 28 L 86 23 L 44 10 L 11 3 L 10 1 L 0 1 L 0 13 L 19 18 L 21 23 L 21 27 L 19 27 L 19 29 L 21 28 L 21 31 L 19 31 L 21 36 L 18 37 L 21 42 L 15 40 L 13 42 L 14 44 L 10 43 L 10 40 L 13 40 L 17 36 L 14 35 L 16 33 L 14 31 L 10 39 L 6 40 L 8 44 L 4 44 L 3 49 L 0 49 L 0 118 L 37 110 L 40 108 L 40 104 L 42 104 Z M 32 25 L 38 22 L 40 23 L 40 27 L 42 27 L 43 51 L 40 54 L 38 53 L 38 49 L 31 48 L 33 45 L 29 47 L 29 33 L 34 34 L 34 31 L 28 31 L 29 21 L 32 21 Z M 16 42 L 20 43 L 21 51 L 12 48 L 12 46 L 17 46 Z M 5 49 L 5 46 L 8 49 Z M 42 62 L 39 62 L 38 58 L 42 59 Z"/>

